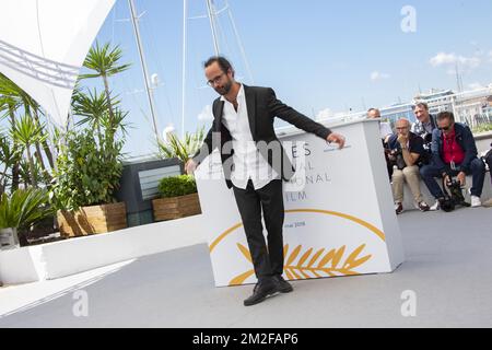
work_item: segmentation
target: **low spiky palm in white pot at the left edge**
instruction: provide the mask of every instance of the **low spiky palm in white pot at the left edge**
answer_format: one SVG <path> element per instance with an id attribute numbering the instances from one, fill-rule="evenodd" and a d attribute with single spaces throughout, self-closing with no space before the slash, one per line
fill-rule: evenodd
<path id="1" fill-rule="evenodd" d="M 0 198 L 0 248 L 20 247 L 17 230 L 51 214 L 49 197 L 45 189 L 30 187 L 16 189 Z"/>

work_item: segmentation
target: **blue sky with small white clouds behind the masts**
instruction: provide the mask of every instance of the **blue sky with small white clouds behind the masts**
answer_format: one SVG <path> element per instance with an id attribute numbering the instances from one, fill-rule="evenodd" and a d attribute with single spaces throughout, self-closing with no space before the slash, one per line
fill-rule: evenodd
<path id="1" fill-rule="evenodd" d="M 320 110 L 362 110 L 410 101 L 418 92 L 456 90 L 455 69 L 468 90 L 492 82 L 492 2 L 489 0 L 229 0 L 256 85 L 272 86 L 280 100 L 314 117 Z M 155 91 L 159 127 L 180 132 L 183 1 L 136 0 L 150 73 L 160 75 Z M 215 0 L 220 10 L 224 0 Z M 415 32 L 405 33 L 401 10 L 415 10 Z M 189 16 L 206 14 L 204 0 L 189 0 Z M 97 35 L 124 49 L 133 66 L 112 80 L 130 112 L 126 152 L 155 151 L 143 78 L 128 2 L 117 0 Z M 220 20 L 221 51 L 246 84 L 251 80 L 239 55 L 227 13 Z M 199 118 L 216 97 L 203 88 L 202 62 L 213 55 L 208 19 L 188 20 L 187 131 L 210 125 Z M 204 114 L 202 114 L 204 115 Z M 280 124 L 279 124 L 280 125 Z"/>

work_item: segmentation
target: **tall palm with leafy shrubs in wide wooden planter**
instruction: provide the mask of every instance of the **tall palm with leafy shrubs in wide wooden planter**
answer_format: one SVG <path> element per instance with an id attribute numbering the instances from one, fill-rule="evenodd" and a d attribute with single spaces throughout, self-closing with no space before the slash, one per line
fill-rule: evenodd
<path id="1" fill-rule="evenodd" d="M 121 49 L 109 44 L 92 47 L 84 61 L 90 70 L 81 79 L 102 78 L 104 92 L 75 89 L 72 97 L 74 130 L 59 142 L 55 172 L 58 225 L 62 236 L 104 233 L 127 228 L 126 205 L 116 202 L 122 171 L 127 113 L 112 97 L 108 77 L 127 70 Z"/>

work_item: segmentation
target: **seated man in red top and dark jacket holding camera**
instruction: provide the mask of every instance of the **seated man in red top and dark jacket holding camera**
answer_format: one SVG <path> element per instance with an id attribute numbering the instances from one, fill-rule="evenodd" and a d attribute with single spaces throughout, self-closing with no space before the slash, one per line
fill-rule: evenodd
<path id="1" fill-rule="evenodd" d="M 434 177 L 442 177 L 446 184 L 452 176 L 457 176 L 461 186 L 466 184 L 466 175 L 472 174 L 471 207 L 480 207 L 485 165 L 477 158 L 477 145 L 470 129 L 462 124 L 455 122 L 450 112 L 437 115 L 437 127 L 432 133 L 432 164 L 420 170 L 422 179 L 436 202 L 431 210 L 437 210 L 445 200 L 445 196 Z"/>

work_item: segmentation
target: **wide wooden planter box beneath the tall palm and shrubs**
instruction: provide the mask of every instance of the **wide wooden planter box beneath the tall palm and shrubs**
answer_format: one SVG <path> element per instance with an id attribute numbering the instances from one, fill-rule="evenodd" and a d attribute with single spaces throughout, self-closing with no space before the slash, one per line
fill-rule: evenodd
<path id="1" fill-rule="evenodd" d="M 127 228 L 125 202 L 82 207 L 78 211 L 58 210 L 58 226 L 63 237 L 85 236 Z"/>

